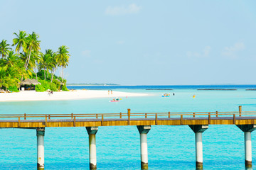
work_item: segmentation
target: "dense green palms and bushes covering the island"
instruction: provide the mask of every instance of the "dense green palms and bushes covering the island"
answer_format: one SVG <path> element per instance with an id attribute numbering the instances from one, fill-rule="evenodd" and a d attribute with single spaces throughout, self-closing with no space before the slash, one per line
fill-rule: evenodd
<path id="1" fill-rule="evenodd" d="M 0 90 L 18 91 L 22 80 L 36 79 L 41 83 L 36 85 L 36 91 L 58 91 L 61 86 L 67 91 L 63 69 L 69 62 L 68 47 L 62 45 L 57 52 L 48 49 L 43 53 L 35 32 L 19 31 L 14 35 L 12 45 L 6 40 L 0 42 Z M 61 77 L 55 76 L 58 67 L 62 69 Z"/>

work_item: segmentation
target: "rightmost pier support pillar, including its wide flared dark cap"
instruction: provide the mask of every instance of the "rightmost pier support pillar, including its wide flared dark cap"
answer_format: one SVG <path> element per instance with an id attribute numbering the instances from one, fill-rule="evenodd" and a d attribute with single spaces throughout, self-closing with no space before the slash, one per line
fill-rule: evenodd
<path id="1" fill-rule="evenodd" d="M 256 129 L 256 125 L 237 125 L 245 134 L 245 167 L 252 168 L 252 138 L 251 132 Z"/>

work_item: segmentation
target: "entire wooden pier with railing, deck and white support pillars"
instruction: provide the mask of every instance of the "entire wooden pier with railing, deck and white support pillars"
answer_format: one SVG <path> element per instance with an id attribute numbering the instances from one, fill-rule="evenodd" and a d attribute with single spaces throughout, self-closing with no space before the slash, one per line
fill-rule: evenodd
<path id="1" fill-rule="evenodd" d="M 245 132 L 245 166 L 252 167 L 251 132 L 256 129 L 256 112 L 190 112 L 190 113 L 95 113 L 95 114 L 6 114 L 0 115 L 0 128 L 36 129 L 38 169 L 44 169 L 45 128 L 86 127 L 89 135 L 90 169 L 97 169 L 96 133 L 99 126 L 137 125 L 141 141 L 142 169 L 148 169 L 146 134 L 151 125 L 188 125 L 195 132 L 196 168 L 203 169 L 202 133 L 208 125 L 237 125 Z"/>

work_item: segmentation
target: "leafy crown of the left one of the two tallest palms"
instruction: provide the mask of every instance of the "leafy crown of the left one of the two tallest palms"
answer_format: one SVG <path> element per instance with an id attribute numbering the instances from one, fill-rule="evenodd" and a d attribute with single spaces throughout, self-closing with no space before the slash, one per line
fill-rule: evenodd
<path id="1" fill-rule="evenodd" d="M 19 33 L 14 33 L 14 35 L 16 35 L 17 38 L 13 39 L 13 45 L 16 45 L 15 48 L 15 52 L 19 53 L 19 51 L 21 50 L 21 47 L 23 47 L 23 51 L 26 50 L 26 32 L 23 30 L 20 30 Z"/>

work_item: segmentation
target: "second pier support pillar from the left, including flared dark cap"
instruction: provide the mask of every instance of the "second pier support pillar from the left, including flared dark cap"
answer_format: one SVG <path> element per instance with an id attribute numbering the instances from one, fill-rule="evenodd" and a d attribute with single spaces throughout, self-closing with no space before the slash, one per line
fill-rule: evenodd
<path id="1" fill-rule="evenodd" d="M 97 159 L 96 159 L 96 133 L 98 130 L 97 126 L 86 127 L 89 135 L 89 157 L 90 157 L 90 170 L 97 169 Z"/>

